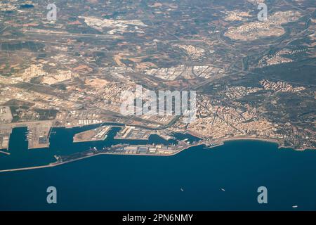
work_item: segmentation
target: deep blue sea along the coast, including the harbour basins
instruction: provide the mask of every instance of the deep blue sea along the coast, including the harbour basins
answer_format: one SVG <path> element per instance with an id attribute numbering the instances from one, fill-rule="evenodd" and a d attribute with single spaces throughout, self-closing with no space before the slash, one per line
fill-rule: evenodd
<path id="1" fill-rule="evenodd" d="M 11 155 L 0 154 L 0 169 L 43 165 L 53 155 L 121 142 L 112 139 L 118 130 L 112 129 L 105 141 L 72 143 L 84 129 L 55 129 L 50 148 L 37 150 L 27 150 L 25 128 L 14 129 Z M 165 143 L 157 136 L 149 142 Z M 57 204 L 46 203 L 48 186 L 57 188 Z M 259 186 L 268 188 L 268 204 L 258 204 Z M 0 188 L 0 210 L 316 210 L 316 151 L 229 141 L 168 157 L 98 155 L 0 173 Z"/>

